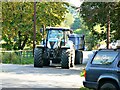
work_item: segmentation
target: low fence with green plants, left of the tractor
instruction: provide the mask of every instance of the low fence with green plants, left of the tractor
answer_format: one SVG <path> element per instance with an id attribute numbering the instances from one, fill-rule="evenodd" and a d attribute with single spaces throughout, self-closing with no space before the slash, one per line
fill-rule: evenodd
<path id="1" fill-rule="evenodd" d="M 32 64 L 32 50 L 1 51 L 2 63 L 10 64 Z"/>

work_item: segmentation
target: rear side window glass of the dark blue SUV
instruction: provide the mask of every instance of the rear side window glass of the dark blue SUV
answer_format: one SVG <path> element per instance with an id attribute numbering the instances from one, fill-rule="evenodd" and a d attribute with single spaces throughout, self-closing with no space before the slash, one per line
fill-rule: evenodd
<path id="1" fill-rule="evenodd" d="M 116 51 L 99 51 L 92 60 L 92 64 L 111 64 L 117 55 Z"/>

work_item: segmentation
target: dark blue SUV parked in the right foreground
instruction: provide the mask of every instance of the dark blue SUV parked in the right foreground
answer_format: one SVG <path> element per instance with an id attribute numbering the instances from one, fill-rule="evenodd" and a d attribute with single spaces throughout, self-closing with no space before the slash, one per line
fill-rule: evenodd
<path id="1" fill-rule="evenodd" d="M 95 90 L 120 90 L 120 40 L 117 49 L 101 49 L 84 69 L 84 87 Z"/>

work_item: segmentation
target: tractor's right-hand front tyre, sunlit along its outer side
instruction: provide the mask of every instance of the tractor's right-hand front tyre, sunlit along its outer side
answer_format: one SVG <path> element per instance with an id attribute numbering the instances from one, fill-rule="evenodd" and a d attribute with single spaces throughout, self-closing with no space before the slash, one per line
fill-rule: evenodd
<path id="1" fill-rule="evenodd" d="M 71 61 L 70 52 L 67 52 L 67 49 L 63 49 L 61 55 L 61 67 L 63 69 L 69 69 L 70 61 Z"/>

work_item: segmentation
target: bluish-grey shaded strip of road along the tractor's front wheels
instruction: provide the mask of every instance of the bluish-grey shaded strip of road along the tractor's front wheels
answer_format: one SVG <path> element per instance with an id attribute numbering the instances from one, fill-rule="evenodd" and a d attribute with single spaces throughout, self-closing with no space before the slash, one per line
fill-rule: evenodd
<path id="1" fill-rule="evenodd" d="M 70 69 L 61 69 L 60 66 L 50 66 L 43 68 L 35 68 L 33 65 L 15 65 L 3 64 L 2 72 L 11 72 L 16 74 L 48 74 L 48 75 L 79 75 L 85 65 L 76 65 Z"/>

